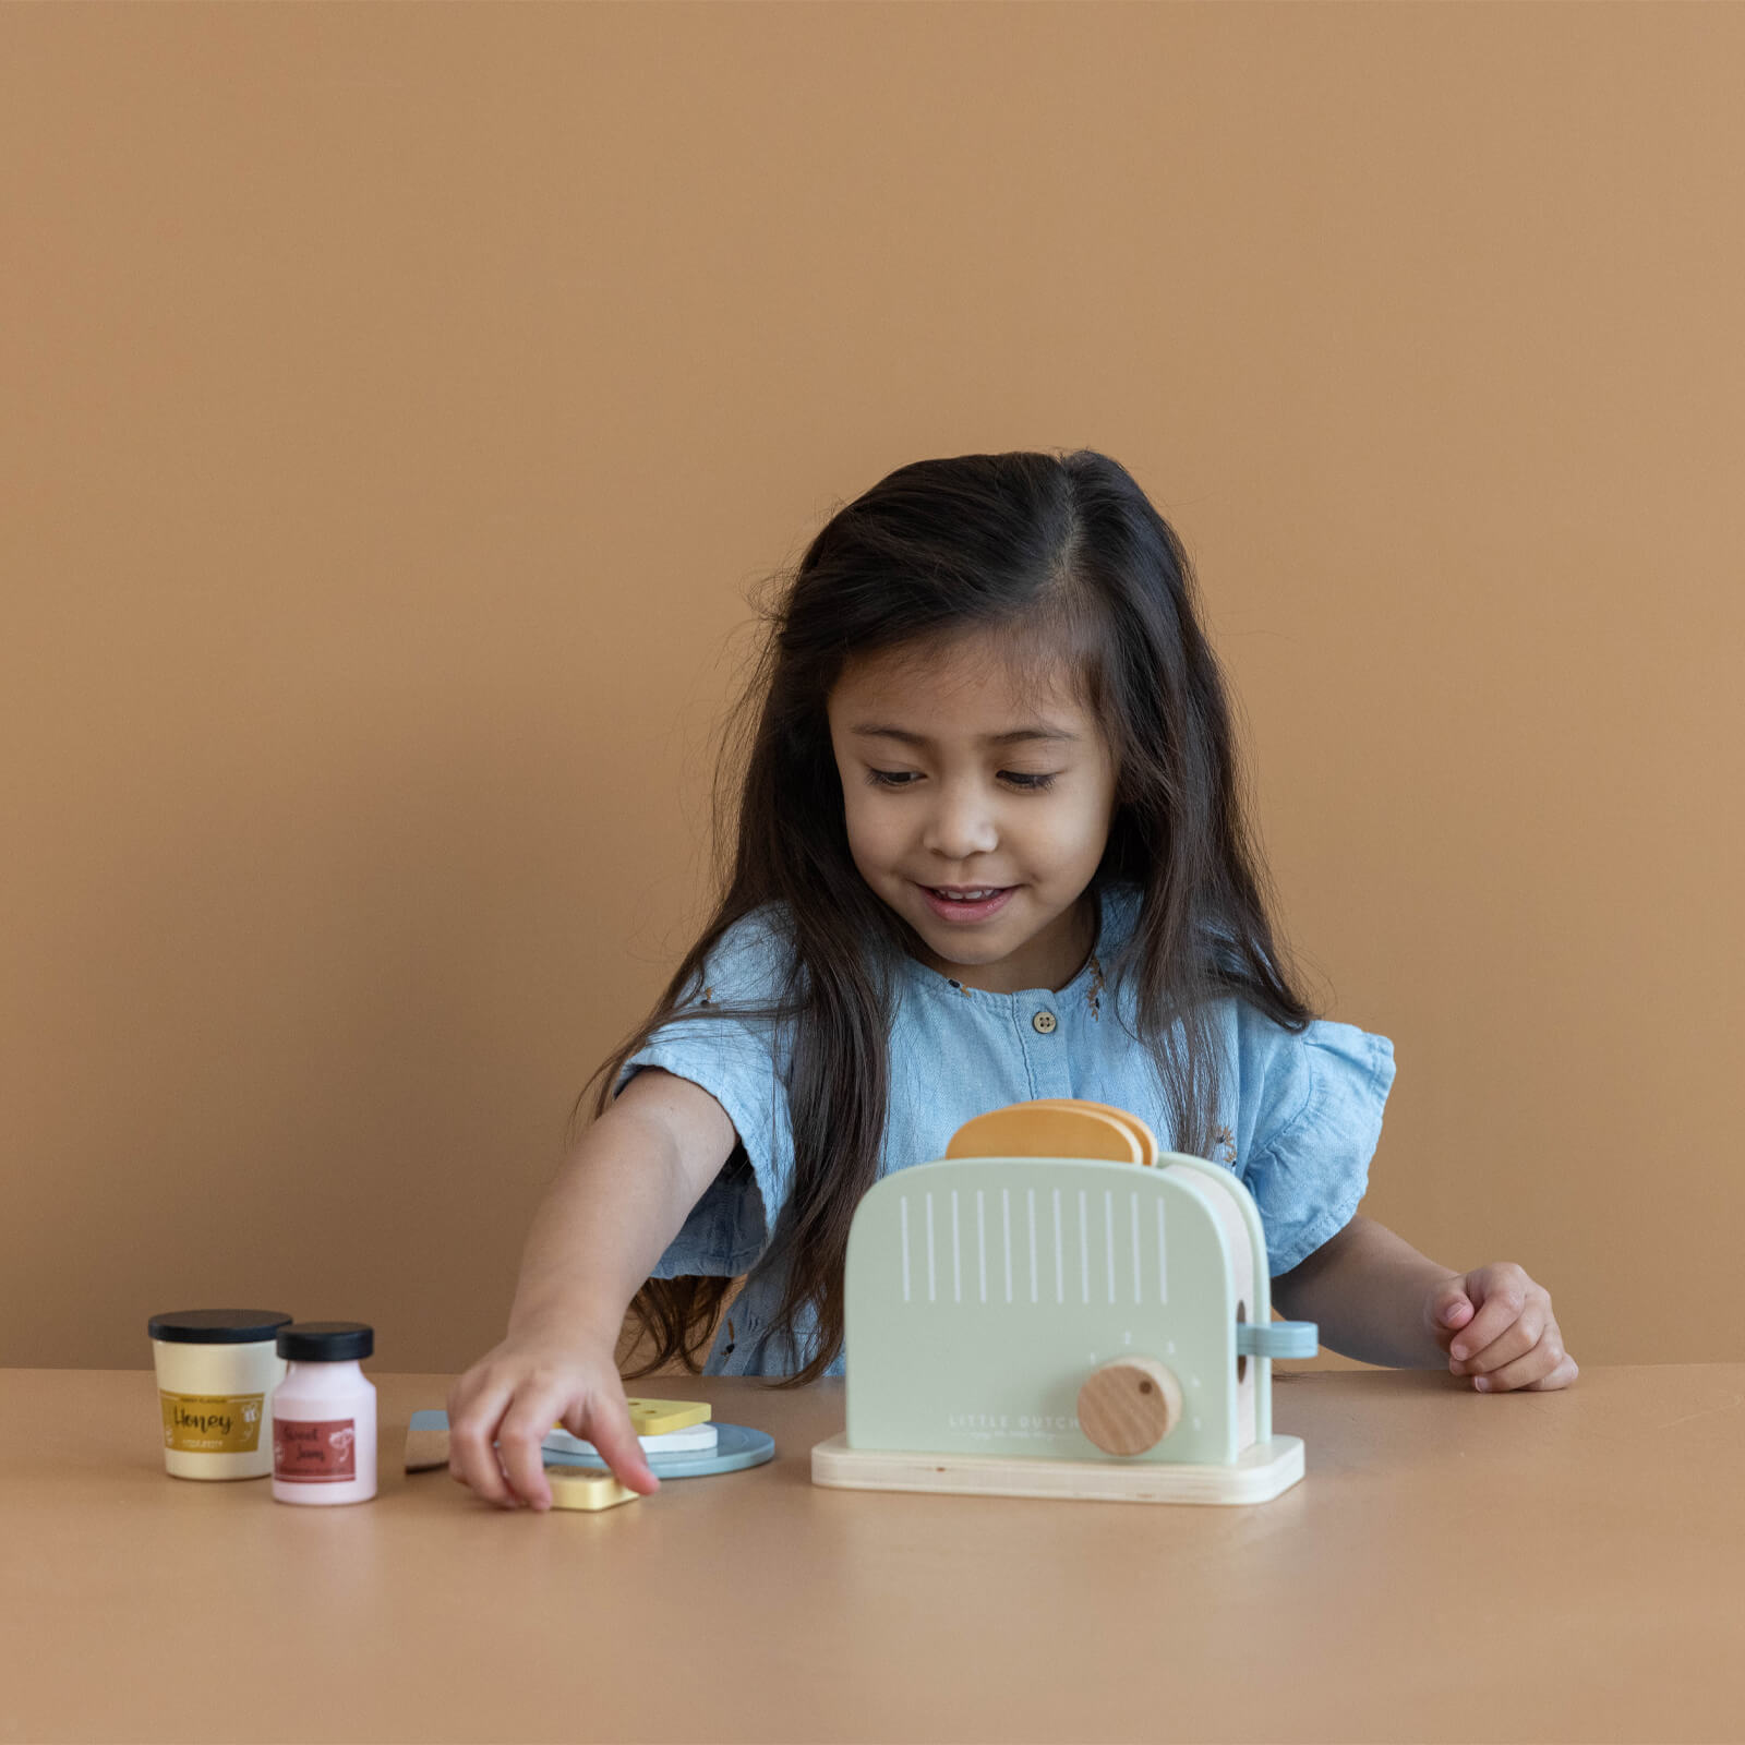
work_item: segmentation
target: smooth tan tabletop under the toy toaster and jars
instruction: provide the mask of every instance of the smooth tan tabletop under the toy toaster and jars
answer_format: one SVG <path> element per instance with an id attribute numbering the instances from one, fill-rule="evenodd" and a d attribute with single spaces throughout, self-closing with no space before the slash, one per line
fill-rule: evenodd
<path id="1" fill-rule="evenodd" d="M 366 1370 L 366 1373 L 370 1373 Z M 642 1379 L 777 1457 L 599 1515 L 169 1478 L 150 1370 L 0 1370 L 0 1740 L 1742 1740 L 1745 1365 L 1279 1375 L 1246 1508 L 825 1490 L 843 1384 Z"/>

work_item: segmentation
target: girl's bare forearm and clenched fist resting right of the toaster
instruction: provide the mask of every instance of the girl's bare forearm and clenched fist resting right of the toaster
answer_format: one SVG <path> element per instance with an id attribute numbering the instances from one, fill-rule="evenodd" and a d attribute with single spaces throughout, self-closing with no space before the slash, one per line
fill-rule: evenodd
<path id="1" fill-rule="evenodd" d="M 1272 1281 L 1272 1304 L 1314 1321 L 1321 1344 L 1359 1363 L 1471 1375 L 1480 1393 L 1567 1387 L 1551 1295 L 1513 1262 L 1455 1272 L 1373 1218 L 1352 1218 Z"/>

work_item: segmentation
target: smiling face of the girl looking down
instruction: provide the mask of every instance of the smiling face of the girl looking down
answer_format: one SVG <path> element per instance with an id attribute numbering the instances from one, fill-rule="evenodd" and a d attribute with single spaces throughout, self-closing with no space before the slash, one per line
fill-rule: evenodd
<path id="1" fill-rule="evenodd" d="M 1080 897 L 1115 811 L 1108 747 L 1066 688 L 1021 693 L 974 633 L 925 665 L 850 661 L 827 712 L 855 866 L 923 961 L 988 993 L 1064 986 L 1096 942 Z"/>

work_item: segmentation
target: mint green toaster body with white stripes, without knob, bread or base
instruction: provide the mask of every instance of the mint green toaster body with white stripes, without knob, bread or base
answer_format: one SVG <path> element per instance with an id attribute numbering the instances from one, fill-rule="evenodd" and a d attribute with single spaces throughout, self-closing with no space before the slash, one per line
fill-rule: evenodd
<path id="1" fill-rule="evenodd" d="M 965 1157 L 900 1169 L 855 1209 L 845 1302 L 853 1450 L 1228 1464 L 1272 1436 L 1265 1234 L 1227 1169 Z M 1176 1377 L 1180 1422 L 1112 1455 L 1078 1427 L 1085 1379 L 1124 1358 Z"/>

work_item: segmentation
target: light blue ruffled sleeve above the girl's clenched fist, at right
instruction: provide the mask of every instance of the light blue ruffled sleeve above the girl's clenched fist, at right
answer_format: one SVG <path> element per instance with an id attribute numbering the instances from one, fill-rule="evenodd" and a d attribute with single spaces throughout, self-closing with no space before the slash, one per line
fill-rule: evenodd
<path id="1" fill-rule="evenodd" d="M 1344 1230 L 1368 1190 L 1394 1045 L 1331 1019 L 1293 1035 L 1239 1005 L 1237 1174 L 1260 1208 L 1277 1277 Z"/>

